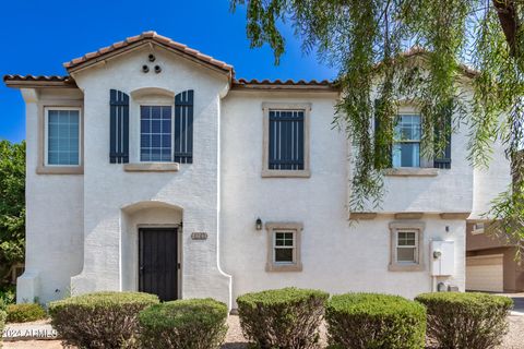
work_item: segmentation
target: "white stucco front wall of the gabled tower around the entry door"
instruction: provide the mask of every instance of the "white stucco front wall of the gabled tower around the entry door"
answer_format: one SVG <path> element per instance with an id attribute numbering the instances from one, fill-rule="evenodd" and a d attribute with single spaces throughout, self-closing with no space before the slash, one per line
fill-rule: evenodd
<path id="1" fill-rule="evenodd" d="M 227 79 L 156 48 L 160 74 L 144 74 L 150 48 L 129 52 L 75 75 L 85 95 L 84 168 L 84 268 L 72 279 L 78 293 L 120 290 L 122 280 L 121 208 L 157 201 L 183 210 L 182 297 L 214 297 L 228 301 L 229 278 L 216 261 L 217 166 L 219 94 Z M 109 164 L 109 89 L 127 94 L 145 87 L 160 87 L 178 94 L 194 89 L 193 164 L 174 172 L 124 172 L 122 165 Z M 138 158 L 139 104 L 130 105 L 131 161 Z M 205 241 L 191 240 L 191 232 L 205 231 Z M 126 232 L 123 232 L 126 233 Z M 129 254 L 128 254 L 129 255 Z"/>

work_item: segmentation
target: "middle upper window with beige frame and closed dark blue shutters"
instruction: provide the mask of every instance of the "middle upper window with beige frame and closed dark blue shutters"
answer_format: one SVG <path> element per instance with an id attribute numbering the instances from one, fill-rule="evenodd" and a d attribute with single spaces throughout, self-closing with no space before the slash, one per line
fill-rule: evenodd
<path id="1" fill-rule="evenodd" d="M 264 104 L 263 177 L 309 177 L 310 108 Z"/>

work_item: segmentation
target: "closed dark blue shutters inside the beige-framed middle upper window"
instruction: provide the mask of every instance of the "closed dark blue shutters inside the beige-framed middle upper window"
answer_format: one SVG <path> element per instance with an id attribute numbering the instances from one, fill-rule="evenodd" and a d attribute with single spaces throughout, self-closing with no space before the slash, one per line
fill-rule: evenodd
<path id="1" fill-rule="evenodd" d="M 303 110 L 270 110 L 269 169 L 303 170 Z"/>

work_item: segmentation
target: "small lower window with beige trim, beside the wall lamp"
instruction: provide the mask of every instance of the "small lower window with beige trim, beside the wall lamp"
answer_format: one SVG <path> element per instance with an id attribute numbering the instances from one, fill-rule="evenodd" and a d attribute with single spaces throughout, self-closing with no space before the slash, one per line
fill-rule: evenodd
<path id="1" fill-rule="evenodd" d="M 300 272 L 300 238 L 302 225 L 298 222 L 269 222 L 267 272 Z"/>

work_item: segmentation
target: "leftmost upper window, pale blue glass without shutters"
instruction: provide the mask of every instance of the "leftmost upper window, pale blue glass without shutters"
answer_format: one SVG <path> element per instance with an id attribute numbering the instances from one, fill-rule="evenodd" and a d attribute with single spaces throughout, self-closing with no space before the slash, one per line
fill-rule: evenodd
<path id="1" fill-rule="evenodd" d="M 80 108 L 45 111 L 45 165 L 80 166 Z"/>

